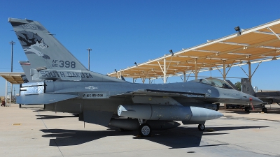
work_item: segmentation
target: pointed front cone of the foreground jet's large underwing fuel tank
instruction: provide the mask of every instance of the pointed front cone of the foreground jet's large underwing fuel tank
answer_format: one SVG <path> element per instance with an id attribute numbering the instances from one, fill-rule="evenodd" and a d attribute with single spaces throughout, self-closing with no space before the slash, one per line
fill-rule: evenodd
<path id="1" fill-rule="evenodd" d="M 207 121 L 223 117 L 223 114 L 221 114 L 220 112 L 209 110 L 207 108 L 191 106 L 190 110 L 193 113 L 193 116 L 191 117 L 190 121 Z"/>

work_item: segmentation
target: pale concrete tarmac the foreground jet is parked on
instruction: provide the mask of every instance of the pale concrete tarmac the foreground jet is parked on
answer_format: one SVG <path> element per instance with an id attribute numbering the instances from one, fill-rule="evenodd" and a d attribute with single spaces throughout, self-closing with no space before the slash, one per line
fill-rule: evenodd
<path id="1" fill-rule="evenodd" d="M 153 131 L 118 131 L 85 124 L 68 113 L 18 105 L 0 107 L 0 156 L 280 156 L 280 107 L 220 112 L 225 116 L 197 125 Z"/>

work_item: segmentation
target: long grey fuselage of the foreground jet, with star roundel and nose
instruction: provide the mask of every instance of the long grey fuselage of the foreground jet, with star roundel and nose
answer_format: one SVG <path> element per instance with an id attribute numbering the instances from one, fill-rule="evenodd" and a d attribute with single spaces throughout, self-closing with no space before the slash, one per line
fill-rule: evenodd
<path id="1" fill-rule="evenodd" d="M 137 84 L 130 82 L 69 82 L 55 81 L 45 82 L 45 93 L 78 94 L 82 99 L 110 98 L 118 94 L 137 91 L 141 89 L 153 89 L 159 91 L 174 91 L 205 94 L 197 96 L 188 94 L 188 98 L 177 98 L 182 105 L 188 103 L 230 103 L 237 105 L 261 104 L 262 101 L 251 95 L 235 89 L 213 87 L 200 82 L 177 82 L 169 84 Z M 99 94 L 99 95 L 98 95 Z M 102 95 L 103 94 L 103 95 Z M 251 100 L 250 100 L 251 98 Z M 176 99 L 176 98 L 175 98 Z"/>

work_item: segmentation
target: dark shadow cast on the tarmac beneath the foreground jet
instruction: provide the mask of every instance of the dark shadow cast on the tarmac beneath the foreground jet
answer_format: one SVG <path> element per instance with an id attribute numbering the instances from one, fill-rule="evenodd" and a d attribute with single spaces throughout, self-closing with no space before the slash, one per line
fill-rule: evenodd
<path id="1" fill-rule="evenodd" d="M 50 146 L 70 146 L 98 140 L 103 137 L 133 135 L 134 140 L 149 140 L 158 144 L 163 144 L 170 149 L 188 147 L 210 147 L 213 144 L 204 144 L 201 139 L 203 135 L 225 135 L 228 133 L 217 133 L 221 130 L 238 130 L 249 128 L 264 128 L 268 126 L 238 126 L 238 127 L 212 127 L 215 132 L 199 131 L 197 128 L 178 127 L 170 130 L 153 131 L 152 137 L 137 137 L 138 131 L 117 131 L 117 130 L 67 130 L 67 129 L 42 129 L 46 133 L 42 137 L 52 137 Z M 225 145 L 225 144 L 216 144 Z"/>

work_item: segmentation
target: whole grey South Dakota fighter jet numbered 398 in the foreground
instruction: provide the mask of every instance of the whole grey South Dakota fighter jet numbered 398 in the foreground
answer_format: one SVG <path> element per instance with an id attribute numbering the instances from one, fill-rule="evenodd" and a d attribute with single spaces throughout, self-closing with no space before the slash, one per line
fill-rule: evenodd
<path id="1" fill-rule="evenodd" d="M 151 130 L 199 124 L 223 117 L 218 103 L 261 104 L 227 82 L 202 79 L 169 84 L 136 84 L 87 70 L 39 22 L 9 18 L 30 61 L 32 80 L 22 84 L 17 103 L 44 104 L 45 110 L 78 113 L 79 120 L 102 126 Z"/>

